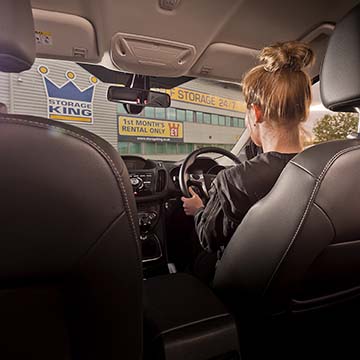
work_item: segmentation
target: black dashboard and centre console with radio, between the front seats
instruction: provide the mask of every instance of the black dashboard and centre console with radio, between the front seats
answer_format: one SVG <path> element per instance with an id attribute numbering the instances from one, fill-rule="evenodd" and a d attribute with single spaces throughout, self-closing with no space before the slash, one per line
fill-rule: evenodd
<path id="1" fill-rule="evenodd" d="M 193 221 L 185 215 L 180 200 L 181 162 L 130 155 L 122 156 L 122 159 L 129 173 L 138 210 L 144 276 L 164 273 L 168 262 L 179 257 L 179 250 L 174 244 L 181 244 L 180 248 L 184 249 L 183 241 L 190 238 L 193 229 Z M 189 172 L 216 175 L 223 168 L 211 158 L 199 157 Z"/>

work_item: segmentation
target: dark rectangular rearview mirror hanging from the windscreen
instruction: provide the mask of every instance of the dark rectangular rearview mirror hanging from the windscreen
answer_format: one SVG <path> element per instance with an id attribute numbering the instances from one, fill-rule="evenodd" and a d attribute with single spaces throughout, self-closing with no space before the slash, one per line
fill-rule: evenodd
<path id="1" fill-rule="evenodd" d="M 140 107 L 169 107 L 171 98 L 168 94 L 144 89 L 110 86 L 107 98 L 109 101 Z"/>

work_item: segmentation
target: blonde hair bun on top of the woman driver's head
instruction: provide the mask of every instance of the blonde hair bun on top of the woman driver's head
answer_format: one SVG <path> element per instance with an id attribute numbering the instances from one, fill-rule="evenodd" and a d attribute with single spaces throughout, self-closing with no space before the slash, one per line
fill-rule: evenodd
<path id="1" fill-rule="evenodd" d="M 283 69 L 302 71 L 313 63 L 314 53 L 307 44 L 289 41 L 263 48 L 259 59 L 268 72 Z"/>

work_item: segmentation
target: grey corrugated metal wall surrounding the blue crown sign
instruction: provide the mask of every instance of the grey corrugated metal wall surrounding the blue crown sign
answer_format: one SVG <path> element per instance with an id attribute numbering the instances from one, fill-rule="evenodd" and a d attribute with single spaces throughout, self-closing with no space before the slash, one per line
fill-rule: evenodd
<path id="1" fill-rule="evenodd" d="M 14 97 L 13 112 L 16 114 L 48 116 L 46 91 L 42 77 L 37 71 L 39 65 L 46 65 L 49 68 L 49 78 L 58 86 L 67 81 L 65 73 L 69 70 L 76 74 L 75 83 L 80 89 L 85 89 L 90 85 L 90 74 L 76 63 L 38 59 L 29 71 L 11 76 Z M 0 73 L 0 81 L 2 75 Z M 106 99 L 108 86 L 101 82 L 96 85 L 93 101 L 93 124 L 79 122 L 71 122 L 71 124 L 101 136 L 117 149 L 116 103 Z M 4 91 L 3 86 L 0 86 L 0 99 L 2 92 L 6 92 L 6 90 Z"/>

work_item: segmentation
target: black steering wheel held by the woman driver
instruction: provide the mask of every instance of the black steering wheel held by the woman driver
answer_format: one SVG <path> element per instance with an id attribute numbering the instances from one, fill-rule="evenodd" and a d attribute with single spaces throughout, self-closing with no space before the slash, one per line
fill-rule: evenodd
<path id="1" fill-rule="evenodd" d="M 189 168 L 192 164 L 194 164 L 195 160 L 202 154 L 215 153 L 223 155 L 230 160 L 232 160 L 235 164 L 240 164 L 241 161 L 230 151 L 217 148 L 217 147 L 205 147 L 201 149 L 197 149 L 190 153 L 180 167 L 179 173 L 179 183 L 180 190 L 186 197 L 191 197 L 189 193 L 189 186 L 195 186 L 200 191 L 200 196 L 203 195 L 205 198 L 209 197 L 209 190 L 211 187 L 211 183 L 215 179 L 216 175 L 214 174 L 204 174 L 204 173 L 189 173 Z"/>

